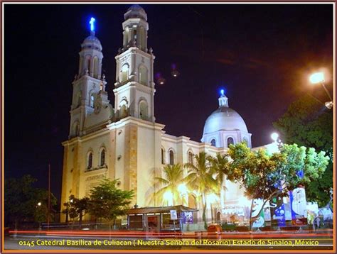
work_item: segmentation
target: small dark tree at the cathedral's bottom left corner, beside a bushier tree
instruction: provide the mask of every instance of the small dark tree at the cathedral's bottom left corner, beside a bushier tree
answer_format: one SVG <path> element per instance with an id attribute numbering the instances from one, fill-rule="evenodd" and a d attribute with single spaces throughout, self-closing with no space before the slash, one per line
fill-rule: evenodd
<path id="1" fill-rule="evenodd" d="M 82 197 L 77 199 L 74 195 L 70 195 L 69 201 L 63 204 L 66 209 L 63 210 L 64 214 L 68 214 L 70 219 L 79 218 L 80 226 L 82 225 L 82 218 L 88 211 L 90 199 L 88 197 Z"/>

